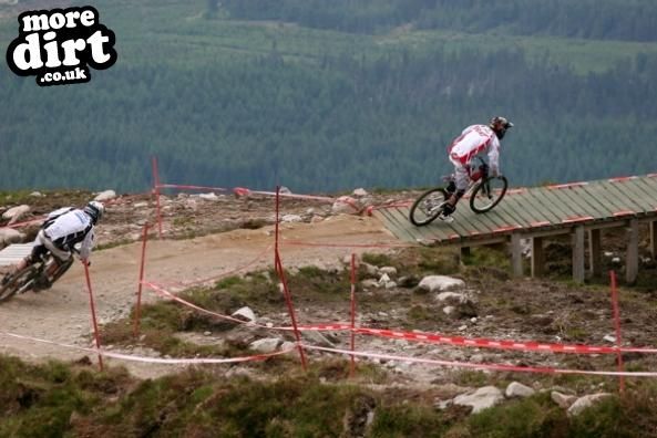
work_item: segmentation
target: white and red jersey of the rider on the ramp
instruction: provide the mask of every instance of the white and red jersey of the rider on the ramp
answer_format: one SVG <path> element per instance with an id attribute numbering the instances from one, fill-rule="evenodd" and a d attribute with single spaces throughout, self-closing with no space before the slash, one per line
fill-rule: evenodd
<path id="1" fill-rule="evenodd" d="M 448 152 L 452 161 L 466 165 L 472 157 L 486 150 L 489 152 L 489 165 L 493 169 L 500 166 L 500 140 L 486 125 L 468 126 L 460 136 L 454 138 Z"/>

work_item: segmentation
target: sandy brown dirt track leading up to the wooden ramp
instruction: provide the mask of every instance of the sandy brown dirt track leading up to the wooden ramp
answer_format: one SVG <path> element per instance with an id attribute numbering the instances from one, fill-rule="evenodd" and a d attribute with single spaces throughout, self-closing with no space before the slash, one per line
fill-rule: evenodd
<path id="1" fill-rule="evenodd" d="M 286 267 L 338 263 L 350 248 L 286 246 L 286 241 L 331 244 L 399 243 L 373 218 L 338 216 L 318 223 L 281 225 L 281 258 Z M 273 227 L 195 238 L 192 240 L 150 240 L 145 278 L 160 283 L 193 282 L 248 265 L 271 265 Z M 268 249 L 269 248 L 269 249 Z M 353 248 L 353 252 L 376 252 Z M 96 251 L 92 254 L 92 284 L 99 322 L 126 315 L 135 302 L 141 243 Z M 144 300 L 156 298 L 144 290 Z M 0 305 L 0 332 L 91 346 L 91 317 L 84 271 L 76 263 L 51 290 L 16 296 Z M 84 352 L 57 345 L 0 336 L 0 353 L 25 359 L 71 361 Z M 93 355 L 89 355 L 95 359 Z M 151 377 L 172 371 L 172 366 L 122 363 L 133 374 Z"/>

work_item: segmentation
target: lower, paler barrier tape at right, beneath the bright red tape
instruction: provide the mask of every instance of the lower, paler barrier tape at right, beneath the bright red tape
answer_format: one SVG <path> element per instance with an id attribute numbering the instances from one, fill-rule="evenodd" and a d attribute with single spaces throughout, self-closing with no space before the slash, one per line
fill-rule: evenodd
<path id="1" fill-rule="evenodd" d="M 454 361 L 440 361 L 430 359 L 422 357 L 410 357 L 410 356 L 396 356 L 391 354 L 379 354 L 379 353 L 367 353 L 367 352 L 351 352 L 349 350 L 328 348 L 315 345 L 301 346 L 306 350 L 314 350 L 327 353 L 343 354 L 347 356 L 360 356 L 379 358 L 386 361 L 399 361 L 399 362 L 411 362 L 418 364 L 440 365 L 440 366 L 452 366 L 456 368 L 475 368 L 475 369 L 490 369 L 490 371 L 503 371 L 503 372 L 521 372 L 521 373 L 541 373 L 541 374 L 586 374 L 596 376 L 626 376 L 626 377 L 657 377 L 657 372 L 596 372 L 596 371 L 584 371 L 584 369 L 563 369 L 553 367 L 532 367 L 532 366 L 517 366 L 517 365 L 504 365 L 504 364 L 473 364 L 469 362 L 454 362 Z"/>

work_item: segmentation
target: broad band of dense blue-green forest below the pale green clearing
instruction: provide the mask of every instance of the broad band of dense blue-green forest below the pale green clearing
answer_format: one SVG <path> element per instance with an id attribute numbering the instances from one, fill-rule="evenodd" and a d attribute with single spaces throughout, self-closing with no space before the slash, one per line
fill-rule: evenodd
<path id="1" fill-rule="evenodd" d="M 657 59 L 576 75 L 520 50 L 269 55 L 125 65 L 40 88 L 0 71 L 0 187 L 144 190 L 167 182 L 331 191 L 435 184 L 446 144 L 491 115 L 516 127 L 514 185 L 657 170 Z"/>

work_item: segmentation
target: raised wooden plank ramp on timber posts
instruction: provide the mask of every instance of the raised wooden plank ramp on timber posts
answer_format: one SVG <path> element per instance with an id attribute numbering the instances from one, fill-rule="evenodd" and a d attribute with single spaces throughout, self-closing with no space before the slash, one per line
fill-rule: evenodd
<path id="1" fill-rule="evenodd" d="M 399 239 L 422 244 L 458 244 L 462 248 L 511 241 L 514 272 L 522 274 L 520 239 L 532 239 L 532 273 L 541 271 L 542 238 L 573 234 L 573 277 L 584 280 L 584 236 L 588 232 L 589 268 L 599 273 L 599 230 L 628 228 L 627 277 L 636 278 L 635 261 L 638 223 L 648 222 L 650 249 L 657 255 L 657 174 L 572 182 L 545 187 L 516 188 L 487 213 L 478 215 L 462 199 L 451 223 L 435 220 L 415 227 L 409 221 L 410 202 L 374 210 L 386 227 Z"/>

